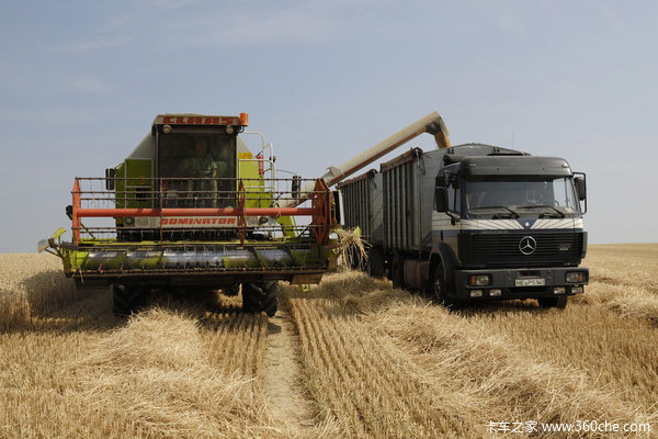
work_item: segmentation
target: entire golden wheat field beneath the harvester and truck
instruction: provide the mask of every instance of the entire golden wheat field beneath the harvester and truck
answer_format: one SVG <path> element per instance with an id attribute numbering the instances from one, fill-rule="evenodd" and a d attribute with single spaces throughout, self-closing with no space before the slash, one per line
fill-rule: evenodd
<path id="1" fill-rule="evenodd" d="M 496 438 L 491 423 L 648 424 L 658 437 L 658 245 L 590 246 L 586 294 L 449 312 L 360 272 L 280 314 L 154 297 L 128 319 L 44 255 L 0 255 L 1 438 Z M 489 427 L 488 427 L 489 426 Z"/>

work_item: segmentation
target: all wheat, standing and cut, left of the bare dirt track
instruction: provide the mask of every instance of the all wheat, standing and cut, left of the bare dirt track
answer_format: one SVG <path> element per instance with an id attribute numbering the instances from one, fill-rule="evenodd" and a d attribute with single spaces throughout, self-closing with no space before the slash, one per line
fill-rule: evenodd
<path id="1" fill-rule="evenodd" d="M 261 392 L 268 318 L 239 297 L 160 297 L 125 323 L 56 258 L 2 262 L 2 311 L 25 313 L 0 330 L 1 438 L 300 436 Z"/>

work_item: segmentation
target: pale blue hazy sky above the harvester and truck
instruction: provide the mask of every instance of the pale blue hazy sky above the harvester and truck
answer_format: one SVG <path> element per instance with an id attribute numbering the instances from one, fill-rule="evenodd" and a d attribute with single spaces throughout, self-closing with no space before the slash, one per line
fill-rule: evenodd
<path id="1" fill-rule="evenodd" d="M 438 111 L 586 172 L 590 244 L 658 241 L 655 1 L 4 1 L 0 55 L 0 252 L 166 112 L 247 112 L 311 178 Z"/>

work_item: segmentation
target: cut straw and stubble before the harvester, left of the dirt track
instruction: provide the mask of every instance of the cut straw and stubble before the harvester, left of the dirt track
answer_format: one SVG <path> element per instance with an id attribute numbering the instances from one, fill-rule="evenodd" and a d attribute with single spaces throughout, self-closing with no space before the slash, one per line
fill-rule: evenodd
<path id="1" fill-rule="evenodd" d="M 156 306 L 121 322 L 3 335 L 0 437 L 297 435 L 271 415 L 258 384 L 264 315 L 198 318 Z"/>

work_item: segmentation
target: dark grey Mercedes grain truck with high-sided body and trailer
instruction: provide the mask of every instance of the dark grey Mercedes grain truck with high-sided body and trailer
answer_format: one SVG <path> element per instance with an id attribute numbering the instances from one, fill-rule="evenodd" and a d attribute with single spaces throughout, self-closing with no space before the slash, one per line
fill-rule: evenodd
<path id="1" fill-rule="evenodd" d="M 485 144 L 411 148 L 342 181 L 365 269 L 455 306 L 536 299 L 564 308 L 589 270 L 586 175 L 557 157 Z"/>

